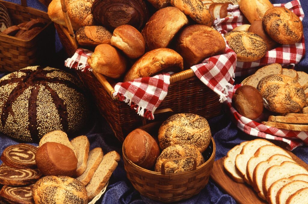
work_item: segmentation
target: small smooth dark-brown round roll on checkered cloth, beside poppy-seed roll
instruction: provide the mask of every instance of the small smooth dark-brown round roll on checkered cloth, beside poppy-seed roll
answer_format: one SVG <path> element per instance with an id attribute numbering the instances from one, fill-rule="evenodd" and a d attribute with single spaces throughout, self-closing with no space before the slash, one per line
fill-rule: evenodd
<path id="1" fill-rule="evenodd" d="M 257 119 L 263 112 L 261 93 L 253 86 L 238 88 L 232 97 L 232 104 L 242 116 L 251 120 Z"/>

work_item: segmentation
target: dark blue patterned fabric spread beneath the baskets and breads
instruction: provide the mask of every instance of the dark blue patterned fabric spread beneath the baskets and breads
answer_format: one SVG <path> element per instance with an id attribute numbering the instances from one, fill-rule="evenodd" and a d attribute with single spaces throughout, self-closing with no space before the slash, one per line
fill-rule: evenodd
<path id="1" fill-rule="evenodd" d="M 11 2 L 20 3 L 19 0 L 10 0 Z M 273 3 L 284 3 L 289 2 L 290 0 L 273 0 Z M 304 13 L 308 15 L 308 1 L 302 0 L 302 7 L 304 9 Z M 37 8 L 40 10 L 46 11 L 46 7 L 44 7 L 37 0 L 28 0 L 28 6 Z M 304 30 L 305 30 L 305 38 L 306 38 L 306 47 L 308 41 L 308 18 L 307 16 L 303 20 Z M 61 50 L 62 46 L 59 43 L 59 38 L 56 39 L 56 50 Z M 62 56 L 61 56 L 62 57 Z M 60 57 L 60 58 L 61 58 Z M 62 64 L 63 61 L 58 60 L 59 64 Z M 298 64 L 296 69 L 301 69 L 306 71 L 308 68 L 308 57 L 307 54 L 302 59 L 302 61 Z M 4 74 L 0 74 L 0 77 L 4 76 Z M 240 82 L 241 79 L 236 79 L 236 81 Z M 97 114 L 98 111 L 93 111 L 92 121 L 93 125 L 87 128 L 87 137 L 90 140 L 91 146 L 90 149 L 95 147 L 101 147 L 104 153 L 108 151 L 115 150 L 121 154 L 121 144 L 115 139 L 111 128 L 107 125 L 106 121 Z M 255 139 L 250 135 L 247 135 L 241 131 L 239 131 L 236 126 L 231 123 L 228 114 L 223 114 L 221 116 L 217 116 L 211 120 L 209 120 L 209 124 L 212 130 L 212 135 L 215 139 L 215 143 L 217 146 L 216 160 L 225 156 L 226 153 L 234 147 L 235 145 L 241 143 L 244 140 Z M 6 135 L 0 134 L 0 153 L 9 145 L 16 144 L 17 141 L 7 137 Z M 37 145 L 37 144 L 34 144 Z M 295 155 L 301 158 L 303 161 L 308 163 L 308 148 L 307 147 L 298 147 L 293 151 Z M 1 163 L 1 161 L 0 161 Z M 107 187 L 107 191 L 103 195 L 103 197 L 97 203 L 106 203 L 106 204 L 141 204 L 141 203 L 158 203 L 148 199 L 146 197 L 140 196 L 140 194 L 132 187 L 131 183 L 126 178 L 126 172 L 124 170 L 123 160 L 119 162 L 118 167 L 112 174 L 109 180 L 109 186 Z M 234 199 L 222 192 L 218 186 L 210 179 L 209 184 L 196 196 L 193 196 L 190 199 L 187 199 L 182 202 L 185 204 L 194 204 L 194 203 L 213 203 L 213 204 L 235 204 Z"/>

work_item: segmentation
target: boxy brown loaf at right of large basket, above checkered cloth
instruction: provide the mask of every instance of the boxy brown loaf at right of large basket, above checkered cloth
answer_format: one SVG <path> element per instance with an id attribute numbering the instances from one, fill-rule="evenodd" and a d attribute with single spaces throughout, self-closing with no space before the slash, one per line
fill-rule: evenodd
<path id="1" fill-rule="evenodd" d="M 191 67 L 207 57 L 224 53 L 225 48 L 224 38 L 215 29 L 190 25 L 180 33 L 176 51 L 183 57 L 185 67 Z"/>

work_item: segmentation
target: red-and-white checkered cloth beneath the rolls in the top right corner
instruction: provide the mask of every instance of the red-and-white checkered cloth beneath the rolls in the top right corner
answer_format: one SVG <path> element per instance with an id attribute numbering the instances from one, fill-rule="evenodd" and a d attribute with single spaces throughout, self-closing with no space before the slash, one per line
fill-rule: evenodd
<path id="1" fill-rule="evenodd" d="M 306 1 L 306 0 L 305 0 Z M 304 11 L 298 0 L 288 2 L 286 4 L 274 4 L 276 7 L 285 6 L 296 14 L 301 20 L 304 18 Z M 214 22 L 214 27 L 222 34 L 228 33 L 233 28 L 250 24 L 240 11 L 238 5 L 229 5 L 228 14 L 231 17 L 217 18 Z M 245 76 L 253 74 L 260 66 L 279 63 L 282 66 L 294 67 L 305 55 L 305 40 L 304 37 L 298 43 L 291 45 L 280 45 L 279 47 L 268 51 L 264 57 L 254 62 L 237 62 L 235 76 Z"/>

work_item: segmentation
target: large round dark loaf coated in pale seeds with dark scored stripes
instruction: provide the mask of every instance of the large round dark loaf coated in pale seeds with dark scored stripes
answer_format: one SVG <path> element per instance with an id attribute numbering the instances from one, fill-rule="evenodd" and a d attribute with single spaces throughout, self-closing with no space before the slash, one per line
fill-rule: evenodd
<path id="1" fill-rule="evenodd" d="M 87 100 L 78 80 L 50 67 L 27 67 L 0 79 L 0 131 L 22 141 L 83 128 Z"/>

